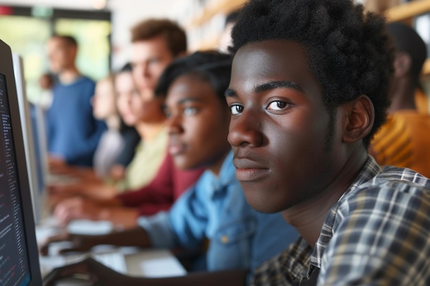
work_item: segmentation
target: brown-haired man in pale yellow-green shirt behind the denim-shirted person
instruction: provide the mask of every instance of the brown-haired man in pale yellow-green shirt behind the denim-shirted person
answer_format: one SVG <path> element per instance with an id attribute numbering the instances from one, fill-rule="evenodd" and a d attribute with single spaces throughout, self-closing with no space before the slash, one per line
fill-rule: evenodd
<path id="1" fill-rule="evenodd" d="M 131 29 L 131 65 L 133 80 L 142 111 L 135 125 L 141 137 L 135 156 L 126 168 L 120 191 L 139 189 L 155 177 L 167 154 L 168 135 L 163 100 L 154 96 L 154 88 L 168 64 L 187 51 L 185 31 L 167 19 L 147 19 Z M 125 119 L 124 119 L 125 120 Z"/>

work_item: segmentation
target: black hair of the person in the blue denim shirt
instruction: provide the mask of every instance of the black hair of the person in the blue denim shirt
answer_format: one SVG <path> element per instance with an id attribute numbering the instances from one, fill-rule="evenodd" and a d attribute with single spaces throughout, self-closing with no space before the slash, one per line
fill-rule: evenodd
<path id="1" fill-rule="evenodd" d="M 209 82 L 220 100 L 227 104 L 224 94 L 230 83 L 231 61 L 231 55 L 218 51 L 196 51 L 178 58 L 161 74 L 155 95 L 166 97 L 170 84 L 186 74 Z"/>

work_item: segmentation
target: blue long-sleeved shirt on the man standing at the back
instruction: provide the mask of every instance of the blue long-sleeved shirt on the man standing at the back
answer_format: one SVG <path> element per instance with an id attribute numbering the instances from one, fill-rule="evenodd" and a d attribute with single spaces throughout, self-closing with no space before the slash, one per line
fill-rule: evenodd
<path id="1" fill-rule="evenodd" d="M 81 77 L 71 84 L 53 88 L 52 106 L 47 110 L 49 153 L 71 165 L 93 165 L 93 154 L 106 124 L 93 117 L 90 99 L 95 83 Z"/>

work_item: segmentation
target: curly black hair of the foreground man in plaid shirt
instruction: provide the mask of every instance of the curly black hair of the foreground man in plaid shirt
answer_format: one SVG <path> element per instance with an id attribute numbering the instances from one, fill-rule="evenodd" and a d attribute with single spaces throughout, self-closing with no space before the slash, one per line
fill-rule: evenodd
<path id="1" fill-rule="evenodd" d="M 301 43 L 324 89 L 332 124 L 340 104 L 360 95 L 372 101 L 374 125 L 363 139 L 367 148 L 389 106 L 394 48 L 386 30 L 383 16 L 364 12 L 351 0 L 251 0 L 231 32 L 229 51 L 262 40 Z"/>

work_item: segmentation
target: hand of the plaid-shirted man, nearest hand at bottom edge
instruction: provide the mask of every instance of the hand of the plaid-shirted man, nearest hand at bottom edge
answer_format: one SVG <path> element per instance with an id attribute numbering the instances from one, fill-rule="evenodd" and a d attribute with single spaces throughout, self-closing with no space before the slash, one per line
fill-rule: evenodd
<path id="1" fill-rule="evenodd" d="M 131 285 L 128 281 L 132 280 L 130 276 L 115 272 L 102 263 L 87 258 L 78 263 L 55 268 L 43 278 L 43 285 L 53 286 L 57 281 L 71 277 L 84 277 L 91 285 Z"/>

